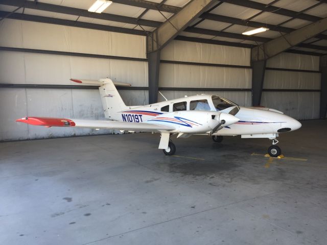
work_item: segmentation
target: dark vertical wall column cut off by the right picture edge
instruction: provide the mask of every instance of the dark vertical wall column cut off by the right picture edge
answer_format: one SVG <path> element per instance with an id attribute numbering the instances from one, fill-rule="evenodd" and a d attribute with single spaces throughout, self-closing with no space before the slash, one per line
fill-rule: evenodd
<path id="1" fill-rule="evenodd" d="M 320 56 L 319 69 L 321 72 L 320 119 L 325 119 L 327 112 L 327 56 Z"/>

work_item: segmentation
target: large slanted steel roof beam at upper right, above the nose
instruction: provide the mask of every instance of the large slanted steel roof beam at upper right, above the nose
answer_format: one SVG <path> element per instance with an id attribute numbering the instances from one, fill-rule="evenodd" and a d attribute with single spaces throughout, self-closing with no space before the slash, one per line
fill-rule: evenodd
<path id="1" fill-rule="evenodd" d="M 281 37 L 270 40 L 266 43 L 263 43 L 257 47 L 253 47 L 251 50 L 251 59 L 252 61 L 261 61 L 267 60 L 283 51 L 288 50 L 290 47 L 299 45 L 308 48 L 316 48 L 324 50 L 325 47 L 301 43 L 306 41 L 321 32 L 327 30 L 327 18 L 318 20 L 308 26 L 302 27 L 298 30 L 295 30 L 291 33 L 283 35 Z"/>

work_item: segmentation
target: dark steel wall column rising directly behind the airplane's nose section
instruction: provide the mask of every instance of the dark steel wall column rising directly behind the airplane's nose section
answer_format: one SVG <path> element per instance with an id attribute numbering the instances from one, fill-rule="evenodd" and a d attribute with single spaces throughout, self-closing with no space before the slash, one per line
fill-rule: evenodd
<path id="1" fill-rule="evenodd" d="M 252 61 L 252 106 L 260 106 L 266 60 Z"/>

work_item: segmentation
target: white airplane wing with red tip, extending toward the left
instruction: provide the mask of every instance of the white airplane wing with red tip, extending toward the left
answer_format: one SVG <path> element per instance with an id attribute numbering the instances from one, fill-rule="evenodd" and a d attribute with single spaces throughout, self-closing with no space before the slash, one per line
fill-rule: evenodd
<path id="1" fill-rule="evenodd" d="M 168 133 L 174 128 L 164 125 L 150 124 L 147 122 L 125 122 L 109 120 L 87 120 L 87 119 L 68 119 L 55 117 L 23 117 L 16 121 L 26 124 L 45 126 L 45 127 L 76 127 L 94 129 L 116 129 L 126 131 L 159 132 Z"/>

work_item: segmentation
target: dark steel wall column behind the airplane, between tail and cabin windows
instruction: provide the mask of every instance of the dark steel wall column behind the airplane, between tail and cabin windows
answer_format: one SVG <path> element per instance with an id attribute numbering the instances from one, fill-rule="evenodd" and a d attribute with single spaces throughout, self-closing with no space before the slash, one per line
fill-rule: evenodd
<path id="1" fill-rule="evenodd" d="M 149 104 L 158 102 L 160 50 L 148 53 Z"/>

